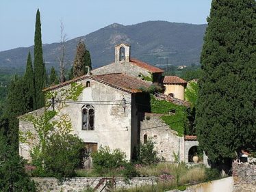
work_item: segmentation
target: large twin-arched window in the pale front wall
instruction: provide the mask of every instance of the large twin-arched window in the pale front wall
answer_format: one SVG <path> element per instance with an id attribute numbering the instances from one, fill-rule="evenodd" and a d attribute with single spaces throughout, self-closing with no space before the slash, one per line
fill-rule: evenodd
<path id="1" fill-rule="evenodd" d="M 94 130 L 94 107 L 92 105 L 84 105 L 81 110 L 82 130 Z"/>

